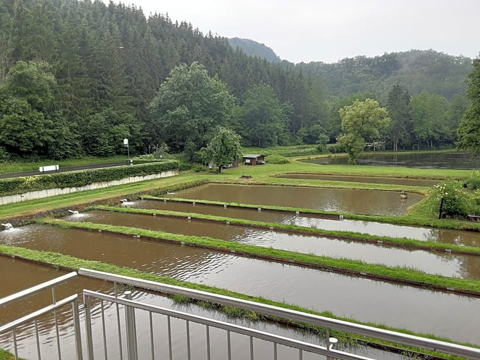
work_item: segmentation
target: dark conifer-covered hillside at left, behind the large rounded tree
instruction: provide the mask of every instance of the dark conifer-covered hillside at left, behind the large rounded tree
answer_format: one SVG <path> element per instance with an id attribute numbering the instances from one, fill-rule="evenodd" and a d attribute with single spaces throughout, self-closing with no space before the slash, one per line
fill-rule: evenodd
<path id="1" fill-rule="evenodd" d="M 237 98 L 269 84 L 291 105 L 288 132 L 319 118 L 307 76 L 190 23 L 100 0 L 0 0 L 0 150 L 108 156 L 129 137 L 144 152 L 162 141 L 148 105 L 175 66 L 195 61 Z"/>

